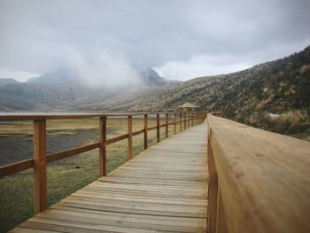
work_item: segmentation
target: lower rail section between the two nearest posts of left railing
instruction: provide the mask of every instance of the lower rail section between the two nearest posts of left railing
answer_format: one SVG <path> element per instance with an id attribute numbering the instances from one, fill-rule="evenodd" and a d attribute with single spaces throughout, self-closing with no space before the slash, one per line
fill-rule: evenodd
<path id="1" fill-rule="evenodd" d="M 50 163 L 58 159 L 65 159 L 65 158 L 68 158 L 68 157 L 71 157 L 77 154 L 81 154 L 86 151 L 92 151 L 94 149 L 97 149 L 99 147 L 99 144 L 100 143 L 81 145 L 81 146 L 78 146 L 78 147 L 75 147 L 73 149 L 69 149 L 66 151 L 58 151 L 58 152 L 50 153 L 47 155 L 46 161 Z"/>

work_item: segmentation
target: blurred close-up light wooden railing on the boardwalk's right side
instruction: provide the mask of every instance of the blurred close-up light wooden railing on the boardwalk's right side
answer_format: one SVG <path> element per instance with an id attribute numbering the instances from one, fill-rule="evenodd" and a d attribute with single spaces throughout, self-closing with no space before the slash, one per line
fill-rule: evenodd
<path id="1" fill-rule="evenodd" d="M 310 232 L 310 144 L 207 121 L 208 232 Z"/>

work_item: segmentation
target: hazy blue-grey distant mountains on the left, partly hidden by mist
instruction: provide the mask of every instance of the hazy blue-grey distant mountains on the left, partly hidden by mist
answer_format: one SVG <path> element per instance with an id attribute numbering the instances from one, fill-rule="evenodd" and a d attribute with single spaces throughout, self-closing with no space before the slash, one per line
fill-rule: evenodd
<path id="1" fill-rule="evenodd" d="M 135 96 L 144 97 L 159 87 L 174 83 L 160 77 L 151 68 L 145 69 L 139 77 L 142 85 L 130 89 L 91 89 L 81 82 L 78 75 L 66 69 L 43 74 L 27 82 L 4 82 L 6 85 L 0 85 L 0 111 L 114 111 L 119 108 L 107 104 L 110 98 L 116 100 L 127 95 L 126 105 L 129 105 L 133 101 L 128 103 L 128 100 L 133 100 Z M 139 94 L 131 94 L 136 92 Z"/>

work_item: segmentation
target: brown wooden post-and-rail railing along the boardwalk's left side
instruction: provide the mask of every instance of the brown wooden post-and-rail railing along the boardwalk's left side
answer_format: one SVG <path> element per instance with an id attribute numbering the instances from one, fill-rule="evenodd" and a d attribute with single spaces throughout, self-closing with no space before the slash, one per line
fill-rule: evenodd
<path id="1" fill-rule="evenodd" d="M 157 125 L 148 127 L 149 115 L 156 115 Z M 166 123 L 160 124 L 160 116 L 166 117 Z M 133 117 L 143 117 L 143 128 L 133 132 Z M 169 122 L 173 116 L 173 122 Z M 106 138 L 106 123 L 109 117 L 127 117 L 128 118 L 128 133 L 121 136 L 115 136 L 110 139 Z M 179 120 L 177 120 L 179 117 Z M 99 141 L 93 144 L 82 145 L 66 151 L 58 151 L 46 154 L 46 120 L 65 120 L 65 119 L 99 119 Z M 34 168 L 35 180 L 35 214 L 43 212 L 47 208 L 47 189 L 46 189 L 46 164 L 58 159 L 65 159 L 85 151 L 91 151 L 99 148 L 99 175 L 106 175 L 106 146 L 119 142 L 123 139 L 128 139 L 128 160 L 133 157 L 133 136 L 143 134 L 144 150 L 148 148 L 148 131 L 155 130 L 157 132 L 157 143 L 160 141 L 160 128 L 165 127 L 166 137 L 168 137 L 168 127 L 174 126 L 174 134 L 176 134 L 177 124 L 182 124 L 184 129 L 193 127 L 196 124 L 202 123 L 206 118 L 206 113 L 185 112 L 185 113 L 105 113 L 105 114 L 12 114 L 0 115 L 0 120 L 33 120 L 34 121 L 34 156 L 33 159 L 26 159 L 9 165 L 0 167 L 0 178 L 5 175 L 12 175 L 19 171 L 28 168 Z"/>

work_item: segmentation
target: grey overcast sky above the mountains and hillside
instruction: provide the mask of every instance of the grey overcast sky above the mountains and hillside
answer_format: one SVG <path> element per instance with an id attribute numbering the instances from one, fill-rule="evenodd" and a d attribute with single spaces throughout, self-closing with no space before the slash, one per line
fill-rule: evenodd
<path id="1" fill-rule="evenodd" d="M 225 74 L 303 50 L 309 12 L 309 0 L 0 0 L 0 78 Z"/>

